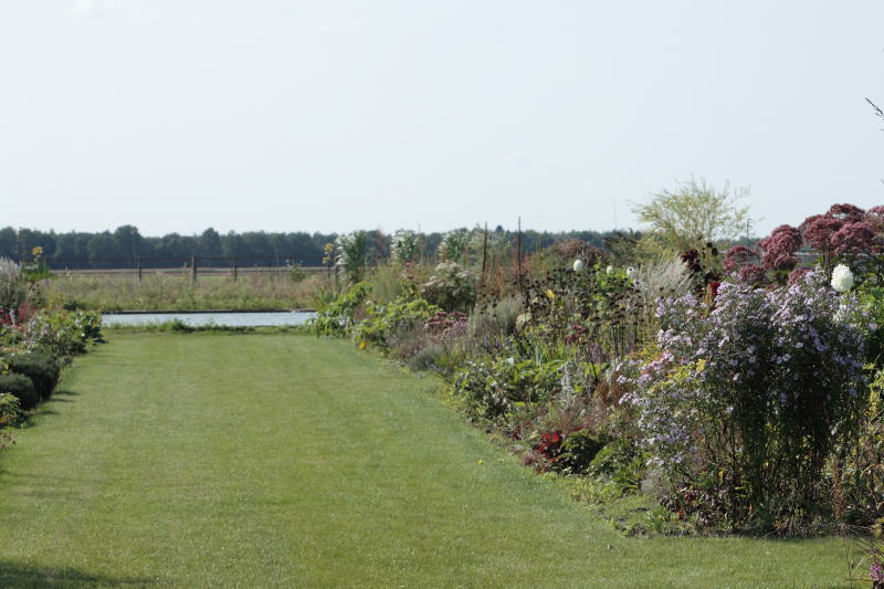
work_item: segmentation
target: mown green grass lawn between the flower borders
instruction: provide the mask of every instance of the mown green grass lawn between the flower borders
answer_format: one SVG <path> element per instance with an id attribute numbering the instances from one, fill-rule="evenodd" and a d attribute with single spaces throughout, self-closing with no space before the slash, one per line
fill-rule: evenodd
<path id="1" fill-rule="evenodd" d="M 846 586 L 834 538 L 623 537 L 347 343 L 110 337 L 0 454 L 0 586 Z"/>

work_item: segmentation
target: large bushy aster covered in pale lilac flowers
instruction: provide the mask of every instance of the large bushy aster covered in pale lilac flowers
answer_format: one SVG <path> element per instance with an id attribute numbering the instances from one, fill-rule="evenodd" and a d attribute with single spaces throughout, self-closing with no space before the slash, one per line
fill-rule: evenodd
<path id="1" fill-rule="evenodd" d="M 724 283 L 713 308 L 686 295 L 659 315 L 659 353 L 621 377 L 650 463 L 673 490 L 703 478 L 735 524 L 819 511 L 825 460 L 865 398 L 855 298 L 810 273 L 775 291 Z"/>

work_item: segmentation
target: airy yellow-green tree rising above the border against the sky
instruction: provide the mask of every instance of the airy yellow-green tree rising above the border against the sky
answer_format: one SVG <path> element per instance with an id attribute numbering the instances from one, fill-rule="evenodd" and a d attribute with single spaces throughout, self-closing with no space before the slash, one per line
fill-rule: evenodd
<path id="1" fill-rule="evenodd" d="M 745 230 L 749 214 L 749 208 L 738 201 L 748 194 L 748 188 L 732 191 L 725 183 L 719 191 L 703 178 L 691 178 L 674 191 L 655 192 L 651 202 L 635 204 L 632 212 L 650 225 L 644 239 L 661 250 L 683 252 L 695 248 L 697 241 L 735 240 Z"/>

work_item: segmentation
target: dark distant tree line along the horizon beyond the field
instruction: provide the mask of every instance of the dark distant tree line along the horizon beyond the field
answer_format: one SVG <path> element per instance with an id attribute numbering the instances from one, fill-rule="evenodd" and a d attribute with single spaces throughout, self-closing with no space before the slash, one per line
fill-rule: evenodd
<path id="1" fill-rule="evenodd" d="M 497 227 L 490 230 L 497 241 L 515 245 L 516 232 Z M 371 260 L 381 261 L 389 255 L 391 235 L 380 230 L 369 231 Z M 567 239 L 583 240 L 599 249 L 606 248 L 606 238 L 617 235 L 613 231 L 548 232 L 526 230 L 522 232 L 522 249 L 526 254 L 547 248 Z M 220 234 L 212 228 L 200 234 L 181 235 L 169 233 L 162 236 L 141 235 L 134 225 L 118 227 L 114 231 L 99 233 L 72 231 L 56 233 L 35 229 L 0 229 L 0 256 L 28 260 L 34 248 L 43 249 L 43 255 L 54 270 L 134 267 L 141 259 L 145 267 L 177 267 L 191 256 L 199 256 L 200 265 L 230 265 L 238 259 L 241 265 L 319 265 L 323 248 L 334 242 L 336 233 L 267 233 L 248 231 Z M 427 259 L 435 256 L 444 233 L 420 234 L 421 253 Z"/>

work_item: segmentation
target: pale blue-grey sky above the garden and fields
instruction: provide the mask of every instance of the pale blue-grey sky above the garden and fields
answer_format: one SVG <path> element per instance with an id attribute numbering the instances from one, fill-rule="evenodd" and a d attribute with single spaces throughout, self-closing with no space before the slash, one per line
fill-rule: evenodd
<path id="1" fill-rule="evenodd" d="M 755 232 L 884 203 L 881 0 L 0 0 L 0 227 Z"/>

